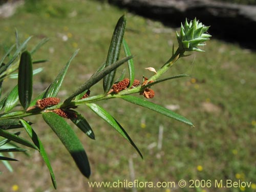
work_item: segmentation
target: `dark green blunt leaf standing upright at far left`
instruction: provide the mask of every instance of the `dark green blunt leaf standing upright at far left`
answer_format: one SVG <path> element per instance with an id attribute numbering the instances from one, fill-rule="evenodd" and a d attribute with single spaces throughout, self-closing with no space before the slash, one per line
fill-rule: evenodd
<path id="1" fill-rule="evenodd" d="M 18 98 L 26 110 L 32 97 L 32 58 L 28 51 L 22 53 L 18 67 Z"/>

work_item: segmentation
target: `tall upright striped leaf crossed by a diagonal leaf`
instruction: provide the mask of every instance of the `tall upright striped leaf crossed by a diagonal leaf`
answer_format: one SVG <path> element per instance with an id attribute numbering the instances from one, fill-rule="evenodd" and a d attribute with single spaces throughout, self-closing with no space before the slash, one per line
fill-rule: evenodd
<path id="1" fill-rule="evenodd" d="M 110 43 L 108 57 L 106 58 L 105 67 L 112 65 L 112 63 L 116 62 L 119 58 L 123 35 L 125 31 L 125 25 L 126 25 L 126 18 L 125 18 L 125 15 L 123 15 L 122 17 L 119 18 L 116 24 L 116 27 L 111 39 L 111 43 Z M 109 92 L 109 90 L 111 89 L 112 84 L 114 83 L 115 74 L 116 74 L 116 70 L 113 70 L 111 73 L 109 73 L 103 78 L 103 89 L 105 92 Z"/>

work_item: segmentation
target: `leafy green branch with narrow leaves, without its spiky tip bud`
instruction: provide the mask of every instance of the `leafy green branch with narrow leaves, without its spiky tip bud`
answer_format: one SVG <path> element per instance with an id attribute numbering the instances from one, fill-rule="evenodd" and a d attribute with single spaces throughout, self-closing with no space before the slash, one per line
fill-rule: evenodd
<path id="1" fill-rule="evenodd" d="M 81 141 L 78 139 L 77 135 L 73 131 L 71 125 L 65 119 L 69 118 L 71 122 L 73 122 L 90 139 L 95 139 L 93 129 L 87 119 L 82 114 L 76 111 L 76 108 L 79 105 L 88 106 L 90 110 L 92 110 L 101 119 L 103 119 L 106 123 L 112 126 L 124 139 L 130 142 L 131 145 L 138 152 L 138 154 L 141 156 L 141 158 L 143 158 L 142 153 L 139 151 L 139 148 L 133 142 L 129 134 L 125 131 L 124 127 L 122 127 L 121 124 L 109 112 L 103 109 L 102 106 L 96 104 L 96 102 L 99 100 L 121 98 L 127 102 L 143 106 L 144 108 L 158 112 L 162 115 L 181 121 L 190 126 L 194 126 L 193 123 L 185 117 L 176 114 L 175 112 L 170 111 L 163 106 L 147 101 L 140 97 L 131 96 L 131 94 L 135 93 L 141 94 L 157 83 L 161 83 L 170 79 L 186 77 L 188 75 L 180 74 L 164 79 L 159 79 L 159 77 L 179 58 L 180 49 L 178 49 L 175 53 L 176 56 L 172 57 L 173 59 L 169 59 L 164 67 L 160 68 L 155 75 L 148 79 L 148 81 L 144 79 L 143 83 L 141 83 L 139 86 L 132 86 L 135 80 L 135 70 L 133 55 L 131 55 L 130 48 L 124 39 L 125 26 L 126 18 L 125 15 L 123 15 L 119 18 L 116 24 L 108 55 L 106 56 L 106 60 L 103 65 L 101 65 L 99 69 L 86 82 L 81 84 L 81 86 L 78 87 L 77 90 L 73 94 L 68 96 L 63 102 L 57 102 L 50 105 L 45 104 L 44 108 L 39 108 L 38 103 L 51 99 L 59 101 L 59 99 L 56 99 L 56 97 L 61 88 L 63 79 L 66 76 L 71 61 L 78 54 L 79 50 L 76 50 L 73 53 L 69 61 L 58 73 L 58 75 L 48 86 L 48 88 L 42 91 L 35 98 L 32 98 L 33 75 L 41 71 L 41 68 L 33 70 L 34 64 L 46 61 L 44 59 L 33 60 L 33 54 L 42 45 L 44 45 L 48 39 L 42 39 L 39 44 L 35 46 L 35 48 L 29 51 L 26 49 L 26 45 L 28 44 L 28 41 L 31 39 L 31 37 L 29 37 L 22 44 L 20 44 L 18 32 L 16 31 L 16 46 L 11 46 L 11 48 L 0 60 L 0 89 L 2 89 L 3 80 L 5 78 L 17 78 L 17 85 L 11 90 L 9 94 L 7 94 L 7 96 L 3 97 L 0 100 L 0 110 L 2 110 L 2 112 L 0 113 L 0 137 L 2 138 L 0 140 L 0 160 L 2 160 L 3 162 L 15 160 L 13 158 L 5 157 L 2 154 L 4 152 L 11 153 L 25 151 L 23 148 L 19 148 L 16 143 L 33 148 L 40 153 L 42 159 L 45 161 L 49 169 L 53 186 L 55 188 L 57 187 L 50 160 L 48 158 L 47 152 L 45 151 L 44 145 L 42 144 L 41 140 L 33 129 L 34 124 L 25 120 L 27 116 L 39 115 L 51 127 L 52 131 L 57 135 L 62 144 L 67 148 L 68 152 L 77 164 L 80 172 L 85 177 L 89 178 L 91 174 L 91 169 L 86 151 L 84 150 Z M 203 34 L 205 31 L 206 30 L 203 30 L 202 32 L 201 30 L 200 33 Z M 197 31 L 196 34 L 197 33 L 199 32 Z M 14 47 L 16 47 L 16 51 L 11 54 Z M 122 49 L 124 51 L 125 57 L 119 59 Z M 182 52 L 182 54 L 183 53 L 184 52 Z M 127 88 L 121 90 L 118 93 L 111 92 L 111 89 L 115 84 L 116 70 L 124 63 L 127 63 L 127 67 L 129 69 L 128 71 L 130 84 L 129 86 L 127 86 Z M 170 65 L 170 63 L 172 63 L 172 65 Z M 18 71 L 18 73 L 14 74 L 16 70 Z M 100 95 L 89 96 L 90 89 L 102 79 L 103 93 Z M 119 78 L 120 81 L 122 79 L 124 79 L 124 75 L 121 75 L 121 78 Z M 86 97 L 84 97 L 85 94 L 87 94 Z M 15 107 L 18 105 L 22 106 L 22 110 L 15 111 Z M 20 132 L 12 133 L 10 131 L 18 128 L 24 129 L 27 132 L 28 136 L 31 138 L 31 140 L 20 137 Z M 1 148 L 2 146 L 7 146 L 8 143 L 11 144 L 8 145 L 7 148 Z"/>

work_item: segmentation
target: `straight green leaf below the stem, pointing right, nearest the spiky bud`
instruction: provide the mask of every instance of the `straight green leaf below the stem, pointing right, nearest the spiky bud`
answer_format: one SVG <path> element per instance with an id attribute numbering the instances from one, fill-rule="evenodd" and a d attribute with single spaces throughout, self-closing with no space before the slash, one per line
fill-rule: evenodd
<path id="1" fill-rule="evenodd" d="M 140 106 L 144 106 L 144 108 L 153 110 L 153 111 L 158 112 L 158 113 L 160 113 L 162 115 L 165 115 L 167 117 L 176 119 L 176 120 L 181 121 L 183 123 L 186 123 L 190 126 L 194 126 L 193 123 L 190 122 L 185 117 L 183 117 L 183 116 L 181 116 L 177 113 L 174 113 L 173 111 L 170 111 L 170 110 L 164 108 L 163 106 L 160 106 L 160 105 L 155 104 L 153 102 L 146 101 L 144 99 L 134 97 L 134 96 L 130 96 L 130 95 L 125 95 L 125 96 L 122 96 L 121 98 L 125 101 L 131 102 L 131 103 L 134 103 L 134 104 L 137 104 L 137 105 L 140 105 Z"/>

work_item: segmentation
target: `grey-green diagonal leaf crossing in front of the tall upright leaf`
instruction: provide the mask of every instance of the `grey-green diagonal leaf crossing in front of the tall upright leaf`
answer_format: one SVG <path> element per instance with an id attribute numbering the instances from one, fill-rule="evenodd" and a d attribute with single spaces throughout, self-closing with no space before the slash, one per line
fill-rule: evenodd
<path id="1" fill-rule="evenodd" d="M 94 84 L 96 84 L 98 81 L 100 81 L 105 75 L 109 74 L 111 71 L 115 70 L 116 68 L 118 68 L 119 66 L 121 66 L 123 63 L 125 63 L 126 61 L 130 60 L 131 58 L 133 58 L 133 56 L 129 56 L 129 57 L 124 57 L 121 60 L 116 61 L 115 63 L 113 63 L 112 65 L 110 65 L 109 67 L 104 68 L 103 70 L 101 70 L 98 73 L 95 73 L 93 76 L 90 77 L 90 79 L 88 79 L 84 84 L 82 84 L 70 97 L 68 97 L 64 102 L 65 103 L 69 103 L 70 101 L 72 101 L 72 99 L 74 97 L 76 97 L 77 95 L 81 94 L 82 92 L 89 90 Z"/>

